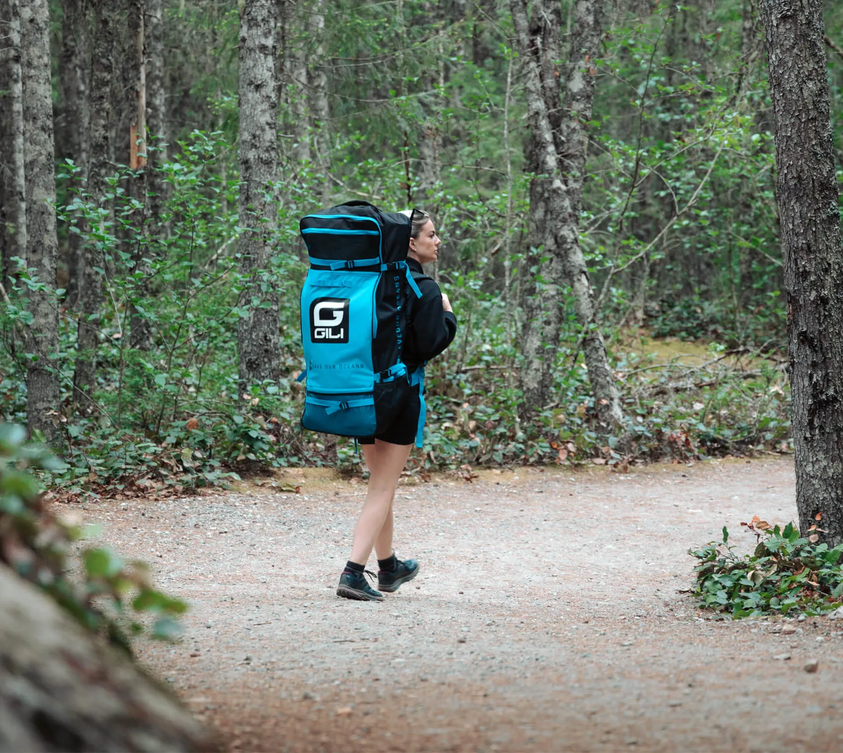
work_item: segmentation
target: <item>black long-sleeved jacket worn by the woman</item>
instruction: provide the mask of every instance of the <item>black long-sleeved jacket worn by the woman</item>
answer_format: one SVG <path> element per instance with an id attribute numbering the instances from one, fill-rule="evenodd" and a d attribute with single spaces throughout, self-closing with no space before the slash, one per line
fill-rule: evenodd
<path id="1" fill-rule="evenodd" d="M 442 353 L 457 334 L 457 318 L 445 311 L 442 305 L 442 291 L 435 280 L 419 277 L 424 274 L 416 259 L 407 259 L 407 265 L 416 272 L 413 275 L 421 291 L 421 299 L 412 298 L 410 305 L 410 328 L 401 360 L 411 369 L 421 366 Z M 412 296 L 412 294 L 411 294 Z"/>

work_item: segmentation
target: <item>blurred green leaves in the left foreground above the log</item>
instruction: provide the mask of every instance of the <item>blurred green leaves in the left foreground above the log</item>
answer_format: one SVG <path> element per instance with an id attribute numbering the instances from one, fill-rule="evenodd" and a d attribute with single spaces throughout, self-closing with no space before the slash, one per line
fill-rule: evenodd
<path id="1" fill-rule="evenodd" d="M 180 630 L 175 617 L 187 606 L 155 589 L 146 564 L 91 547 L 82 549 L 77 565 L 76 542 L 85 531 L 46 510 L 32 473 L 60 473 L 63 463 L 43 447 L 25 444 L 25 437 L 23 427 L 0 423 L 0 563 L 44 590 L 84 628 L 126 650 L 147 631 L 174 638 Z M 151 628 L 144 627 L 146 615 L 153 617 Z"/>

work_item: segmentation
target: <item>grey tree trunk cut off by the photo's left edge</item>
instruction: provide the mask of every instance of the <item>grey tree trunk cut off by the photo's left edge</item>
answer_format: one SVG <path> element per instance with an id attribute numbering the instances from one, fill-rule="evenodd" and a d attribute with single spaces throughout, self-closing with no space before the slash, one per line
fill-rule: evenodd
<path id="1" fill-rule="evenodd" d="M 6 20 L 4 81 L 0 82 L 0 184 L 3 190 L 3 286 L 16 269 L 13 257 L 26 260 L 26 184 L 24 181 L 24 92 L 20 61 L 20 3 L 0 3 L 0 18 Z"/>

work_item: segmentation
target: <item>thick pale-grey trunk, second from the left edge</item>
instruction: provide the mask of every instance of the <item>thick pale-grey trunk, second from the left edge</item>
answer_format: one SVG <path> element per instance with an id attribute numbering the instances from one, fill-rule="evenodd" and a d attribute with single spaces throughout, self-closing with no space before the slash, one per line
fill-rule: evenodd
<path id="1" fill-rule="evenodd" d="M 26 419 L 30 432 L 44 432 L 56 444 L 59 374 L 56 302 L 56 161 L 52 118 L 50 7 L 27 0 L 20 7 L 24 92 L 24 176 L 26 180 L 27 265 L 45 286 L 30 291 L 32 323 L 26 350 L 35 356 L 26 370 Z"/>

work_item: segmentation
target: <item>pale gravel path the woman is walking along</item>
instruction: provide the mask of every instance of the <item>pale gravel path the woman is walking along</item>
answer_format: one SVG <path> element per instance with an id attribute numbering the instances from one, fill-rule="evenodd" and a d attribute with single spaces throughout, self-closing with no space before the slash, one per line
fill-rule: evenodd
<path id="1" fill-rule="evenodd" d="M 365 483 L 287 478 L 300 494 L 84 505 L 191 602 L 184 641 L 139 654 L 226 750 L 843 745 L 843 623 L 711 621 L 683 593 L 689 547 L 795 517 L 791 458 L 402 485 L 397 553 L 421 574 L 379 603 L 335 595 Z"/>

